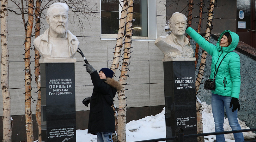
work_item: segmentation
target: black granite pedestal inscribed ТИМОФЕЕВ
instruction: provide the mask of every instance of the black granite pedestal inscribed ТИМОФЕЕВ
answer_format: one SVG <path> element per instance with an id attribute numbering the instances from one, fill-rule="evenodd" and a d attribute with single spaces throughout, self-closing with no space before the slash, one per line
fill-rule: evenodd
<path id="1" fill-rule="evenodd" d="M 169 61 L 163 65 L 166 137 L 175 136 L 178 127 L 185 135 L 196 134 L 195 62 Z M 197 142 L 197 137 L 185 141 Z"/>

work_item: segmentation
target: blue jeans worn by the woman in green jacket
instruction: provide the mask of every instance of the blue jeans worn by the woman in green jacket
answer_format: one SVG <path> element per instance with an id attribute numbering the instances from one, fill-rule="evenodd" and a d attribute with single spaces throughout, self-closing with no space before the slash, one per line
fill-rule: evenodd
<path id="1" fill-rule="evenodd" d="M 216 95 L 211 93 L 211 107 L 212 114 L 215 123 L 215 132 L 223 132 L 223 124 L 224 124 L 224 107 L 226 109 L 226 113 L 229 119 L 229 125 L 232 130 L 241 130 L 241 127 L 237 121 L 237 109 L 232 112 L 232 108 L 229 108 L 231 101 L 231 97 L 224 97 L 221 95 Z M 233 133 L 235 137 L 235 142 L 244 141 L 243 133 Z M 224 134 L 216 135 L 216 142 L 224 142 Z"/>

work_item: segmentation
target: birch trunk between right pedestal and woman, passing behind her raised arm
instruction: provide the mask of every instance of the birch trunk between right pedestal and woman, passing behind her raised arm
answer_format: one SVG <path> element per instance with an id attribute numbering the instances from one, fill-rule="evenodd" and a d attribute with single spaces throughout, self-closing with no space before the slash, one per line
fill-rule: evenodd
<path id="1" fill-rule="evenodd" d="M 215 7 L 214 3 L 215 3 L 215 0 L 211 0 L 209 4 L 209 9 L 208 9 L 207 28 L 206 28 L 206 31 L 205 31 L 206 34 L 204 37 L 207 41 L 210 41 L 210 33 L 212 30 L 213 9 Z M 207 54 L 208 53 L 205 50 L 202 51 L 202 58 L 201 58 L 200 67 L 199 67 L 197 80 L 196 80 L 196 94 L 198 94 L 199 86 L 203 79 Z M 197 129 L 198 129 L 198 133 L 203 133 L 203 120 L 202 120 L 202 109 L 201 109 L 202 104 L 199 103 L 198 101 L 196 101 L 196 104 L 197 104 Z M 198 137 L 198 140 L 204 141 L 204 138 Z"/>

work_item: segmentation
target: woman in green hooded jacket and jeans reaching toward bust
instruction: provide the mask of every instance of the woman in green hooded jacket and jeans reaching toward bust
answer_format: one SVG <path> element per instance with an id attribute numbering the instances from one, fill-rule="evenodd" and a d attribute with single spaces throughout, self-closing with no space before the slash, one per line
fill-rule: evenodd
<path id="1" fill-rule="evenodd" d="M 241 130 L 237 121 L 237 110 L 240 110 L 238 101 L 241 85 L 240 57 L 237 53 L 232 52 L 239 42 L 239 36 L 236 33 L 225 30 L 221 33 L 215 46 L 206 41 L 191 27 L 186 29 L 186 33 L 212 56 L 209 79 L 215 78 L 215 89 L 211 91 L 211 106 L 215 132 L 224 131 L 224 107 L 232 130 Z M 218 66 L 219 69 L 217 70 Z M 244 141 L 243 133 L 234 133 L 234 137 L 236 142 Z M 224 141 L 224 134 L 216 135 L 216 142 Z"/>

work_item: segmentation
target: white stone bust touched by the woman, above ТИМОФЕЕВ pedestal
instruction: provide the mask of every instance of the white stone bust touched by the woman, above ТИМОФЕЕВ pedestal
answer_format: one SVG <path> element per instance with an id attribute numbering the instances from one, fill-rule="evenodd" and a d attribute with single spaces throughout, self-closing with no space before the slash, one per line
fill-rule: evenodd
<path id="1" fill-rule="evenodd" d="M 193 57 L 189 39 L 184 36 L 187 27 L 186 16 L 175 12 L 169 21 L 171 33 L 157 38 L 155 45 L 164 53 L 164 58 Z"/>

